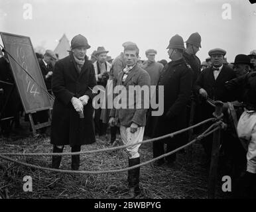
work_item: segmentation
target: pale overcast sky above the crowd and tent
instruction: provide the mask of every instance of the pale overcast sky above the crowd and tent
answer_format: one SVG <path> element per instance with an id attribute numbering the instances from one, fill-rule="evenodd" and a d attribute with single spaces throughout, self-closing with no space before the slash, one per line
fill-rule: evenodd
<path id="1" fill-rule="evenodd" d="M 32 6 L 32 19 L 23 17 L 26 3 Z M 154 48 L 157 60 L 168 61 L 166 47 L 174 34 L 186 41 L 192 32 L 199 32 L 201 61 L 211 48 L 224 48 L 227 60 L 233 62 L 236 54 L 256 49 L 256 4 L 247 0 L 0 0 L 0 31 L 29 36 L 34 48 L 51 50 L 64 33 L 69 40 L 83 34 L 92 46 L 88 55 L 104 46 L 112 58 L 123 50 L 123 42 L 133 41 L 141 58 L 145 59 L 145 50 Z"/>

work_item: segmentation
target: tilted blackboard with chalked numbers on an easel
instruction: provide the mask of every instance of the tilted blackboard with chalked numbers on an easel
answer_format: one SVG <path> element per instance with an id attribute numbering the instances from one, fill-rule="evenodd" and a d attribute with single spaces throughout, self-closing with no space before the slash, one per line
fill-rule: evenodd
<path id="1" fill-rule="evenodd" d="M 5 50 L 27 70 L 32 79 L 8 54 L 15 83 L 21 96 L 25 113 L 50 109 L 52 104 L 46 91 L 42 72 L 28 36 L 0 32 Z M 44 89 L 42 89 L 42 87 Z"/>

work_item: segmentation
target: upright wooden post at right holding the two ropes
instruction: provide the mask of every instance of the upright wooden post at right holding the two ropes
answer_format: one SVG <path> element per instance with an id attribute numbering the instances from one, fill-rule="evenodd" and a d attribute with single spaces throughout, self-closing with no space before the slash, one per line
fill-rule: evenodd
<path id="1" fill-rule="evenodd" d="M 222 115 L 222 101 L 215 101 L 215 111 L 213 113 L 214 117 L 218 118 Z M 218 129 L 214 132 L 213 135 L 213 142 L 212 142 L 212 158 L 211 158 L 211 165 L 210 165 L 210 173 L 209 173 L 209 180 L 208 180 L 208 199 L 215 198 L 215 191 L 216 191 L 216 181 L 217 181 L 217 169 L 218 169 L 218 158 L 220 152 L 220 131 Z"/>

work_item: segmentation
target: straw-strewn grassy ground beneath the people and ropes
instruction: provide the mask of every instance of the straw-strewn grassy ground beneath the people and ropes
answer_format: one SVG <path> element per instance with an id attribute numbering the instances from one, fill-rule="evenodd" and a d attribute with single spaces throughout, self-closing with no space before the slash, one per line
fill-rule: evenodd
<path id="1" fill-rule="evenodd" d="M 151 143 L 140 148 L 141 162 L 152 159 Z M 83 150 L 106 148 L 106 137 L 97 137 L 94 144 L 82 146 Z M 0 152 L 52 152 L 47 134 L 38 138 L 31 135 L 1 138 Z M 64 148 L 70 152 L 70 146 Z M 50 167 L 51 157 L 15 156 L 16 160 Z M 80 170 L 111 170 L 127 167 L 125 150 L 100 152 L 80 156 Z M 151 164 L 141 168 L 141 195 L 137 198 L 153 199 L 202 199 L 207 198 L 208 168 L 204 168 L 204 152 L 199 143 L 193 145 L 192 160 L 184 153 L 178 153 L 176 164 L 154 167 Z M 60 169 L 70 169 L 71 156 L 63 156 Z M 32 192 L 23 191 L 23 177 L 32 177 Z M 220 176 L 219 176 L 220 178 Z M 218 180 L 216 197 L 226 198 Z M 27 166 L 0 159 L 0 189 L 7 188 L 10 198 L 122 198 L 127 192 L 127 172 L 116 174 L 62 174 L 35 170 Z"/>

